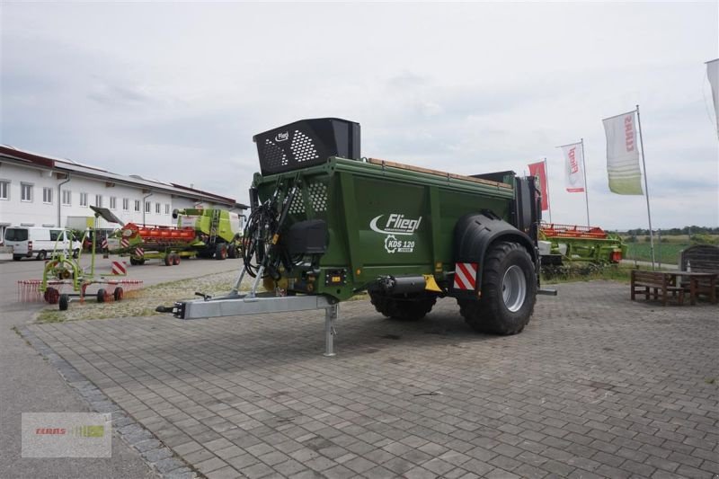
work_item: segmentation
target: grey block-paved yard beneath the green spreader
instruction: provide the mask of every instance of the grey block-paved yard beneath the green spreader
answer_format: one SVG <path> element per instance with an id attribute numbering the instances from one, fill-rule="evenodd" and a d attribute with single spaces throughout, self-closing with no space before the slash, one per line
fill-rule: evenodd
<path id="1" fill-rule="evenodd" d="M 719 477 L 719 308 L 564 284 L 524 333 L 319 313 L 31 332 L 210 478 Z"/>

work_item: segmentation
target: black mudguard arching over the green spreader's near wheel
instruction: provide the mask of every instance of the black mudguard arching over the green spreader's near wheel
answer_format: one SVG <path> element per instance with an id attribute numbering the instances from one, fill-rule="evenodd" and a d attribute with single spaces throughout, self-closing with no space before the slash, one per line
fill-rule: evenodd
<path id="1" fill-rule="evenodd" d="M 467 291 L 453 288 L 453 296 L 477 297 L 482 287 L 482 274 L 484 254 L 490 244 L 495 241 L 508 241 L 518 243 L 527 249 L 532 257 L 532 262 L 537 269 L 537 258 L 539 257 L 537 246 L 525 233 L 497 217 L 490 211 L 483 213 L 470 213 L 460 217 L 455 225 L 455 262 L 476 263 L 477 276 L 475 290 Z M 538 271 L 538 269 L 537 269 Z"/>

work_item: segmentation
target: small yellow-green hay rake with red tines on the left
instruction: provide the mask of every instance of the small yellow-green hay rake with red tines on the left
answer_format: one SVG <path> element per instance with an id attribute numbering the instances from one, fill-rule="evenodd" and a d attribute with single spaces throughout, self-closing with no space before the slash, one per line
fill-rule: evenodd
<path id="1" fill-rule="evenodd" d="M 95 218 L 102 217 L 110 223 L 121 224 L 120 219 L 115 217 L 108 208 L 93 206 L 90 208 L 93 209 Z M 85 231 L 83 242 L 89 231 Z M 127 275 L 127 269 L 121 262 L 112 262 L 111 271 L 108 273 L 95 271 L 96 236 L 92 235 L 93 248 L 90 253 L 89 269 L 80 265 L 82 252 L 67 250 L 67 247 L 64 247 L 64 244 L 58 239 L 50 259 L 45 262 L 42 279 L 18 281 L 20 300 L 31 302 L 39 300 L 41 297 L 50 305 L 59 305 L 60 311 L 65 311 L 72 300 L 84 302 L 87 297 L 87 288 L 93 285 L 101 287 L 93 293 L 93 297 L 97 299 L 98 303 L 120 301 L 125 297 L 126 292 L 142 288 L 141 280 L 124 278 Z"/>

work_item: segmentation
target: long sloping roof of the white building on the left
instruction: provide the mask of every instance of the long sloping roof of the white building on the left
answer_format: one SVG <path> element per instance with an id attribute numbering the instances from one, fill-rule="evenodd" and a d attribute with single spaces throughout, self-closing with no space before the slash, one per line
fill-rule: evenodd
<path id="1" fill-rule="evenodd" d="M 129 176 L 111 173 L 102 168 L 90 166 L 88 164 L 78 163 L 67 158 L 58 158 L 49 155 L 40 155 L 27 150 L 21 150 L 13 146 L 0 145 L 0 160 L 11 160 L 18 164 L 26 164 L 40 168 L 49 168 L 58 173 L 75 173 L 84 177 L 102 179 L 105 182 L 117 182 L 136 186 L 144 189 L 155 191 L 164 191 L 166 193 L 183 196 L 186 198 L 195 198 L 199 200 L 209 200 L 213 203 L 226 205 L 230 208 L 249 208 L 247 205 L 237 203 L 233 198 L 220 196 L 209 191 L 201 191 L 188 186 L 177 183 L 160 182 L 158 180 L 150 180 L 138 174 Z"/>

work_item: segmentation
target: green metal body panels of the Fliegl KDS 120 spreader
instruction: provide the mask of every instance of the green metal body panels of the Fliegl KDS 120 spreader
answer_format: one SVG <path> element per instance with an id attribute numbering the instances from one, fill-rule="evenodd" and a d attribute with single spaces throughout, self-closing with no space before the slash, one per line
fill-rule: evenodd
<path id="1" fill-rule="evenodd" d="M 488 210 L 510 221 L 511 175 L 505 182 L 490 182 L 393 165 L 331 157 L 301 170 L 255 174 L 261 202 L 276 190 L 284 191 L 283 200 L 285 185 L 298 182 L 286 224 L 321 219 L 329 232 L 319 271 L 286 271 L 288 281 L 281 286 L 340 300 L 387 275 L 433 275 L 446 287 L 455 268 L 457 220 Z"/>

